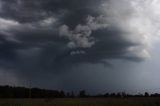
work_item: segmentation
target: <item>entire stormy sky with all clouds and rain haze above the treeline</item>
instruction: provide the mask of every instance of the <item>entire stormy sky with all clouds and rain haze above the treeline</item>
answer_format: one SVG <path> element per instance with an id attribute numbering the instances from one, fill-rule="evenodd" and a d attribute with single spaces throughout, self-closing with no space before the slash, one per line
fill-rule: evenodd
<path id="1" fill-rule="evenodd" d="M 0 0 L 0 85 L 160 92 L 159 0 Z"/>

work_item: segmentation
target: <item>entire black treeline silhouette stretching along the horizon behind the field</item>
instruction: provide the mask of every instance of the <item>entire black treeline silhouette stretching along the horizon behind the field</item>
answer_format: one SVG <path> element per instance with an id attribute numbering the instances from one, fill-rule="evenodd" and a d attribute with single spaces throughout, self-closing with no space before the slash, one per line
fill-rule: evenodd
<path id="1" fill-rule="evenodd" d="M 86 97 L 160 97 L 160 94 L 144 94 L 131 95 L 125 92 L 118 93 L 106 93 L 99 95 L 87 95 L 85 90 L 81 90 L 78 95 L 71 93 L 65 93 L 58 90 L 46 90 L 40 88 L 25 88 L 25 87 L 11 87 L 0 86 L 0 98 L 86 98 Z"/>

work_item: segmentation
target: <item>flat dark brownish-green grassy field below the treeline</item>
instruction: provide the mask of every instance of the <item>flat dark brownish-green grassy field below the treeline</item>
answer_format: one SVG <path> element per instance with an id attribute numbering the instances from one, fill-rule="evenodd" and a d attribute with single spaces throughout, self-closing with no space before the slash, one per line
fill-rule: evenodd
<path id="1" fill-rule="evenodd" d="M 0 99 L 0 106 L 160 106 L 160 98 Z"/>

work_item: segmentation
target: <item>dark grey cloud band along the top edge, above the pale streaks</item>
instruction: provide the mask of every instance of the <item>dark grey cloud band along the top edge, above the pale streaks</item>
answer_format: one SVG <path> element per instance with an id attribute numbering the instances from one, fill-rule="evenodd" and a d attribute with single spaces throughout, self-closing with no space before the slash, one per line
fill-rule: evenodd
<path id="1" fill-rule="evenodd" d="M 68 12 L 69 15 L 61 18 L 64 21 L 71 22 L 80 20 L 80 17 L 92 13 L 98 0 L 87 0 L 85 2 L 80 0 L 71 0 L 69 2 L 67 0 L 2 0 L 1 2 L 3 4 L 1 15 L 5 18 L 15 19 L 20 22 L 34 22 L 45 19 L 50 15 L 57 16 Z M 74 16 L 74 20 L 72 20 L 72 16 Z"/>

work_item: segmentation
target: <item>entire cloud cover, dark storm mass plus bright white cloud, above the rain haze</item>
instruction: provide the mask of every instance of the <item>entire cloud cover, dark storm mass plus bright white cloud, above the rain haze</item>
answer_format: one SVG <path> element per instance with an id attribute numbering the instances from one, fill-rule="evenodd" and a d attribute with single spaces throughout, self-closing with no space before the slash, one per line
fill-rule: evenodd
<path id="1" fill-rule="evenodd" d="M 33 77 L 143 61 L 159 40 L 159 7 L 158 0 L 0 0 L 0 67 Z"/>

